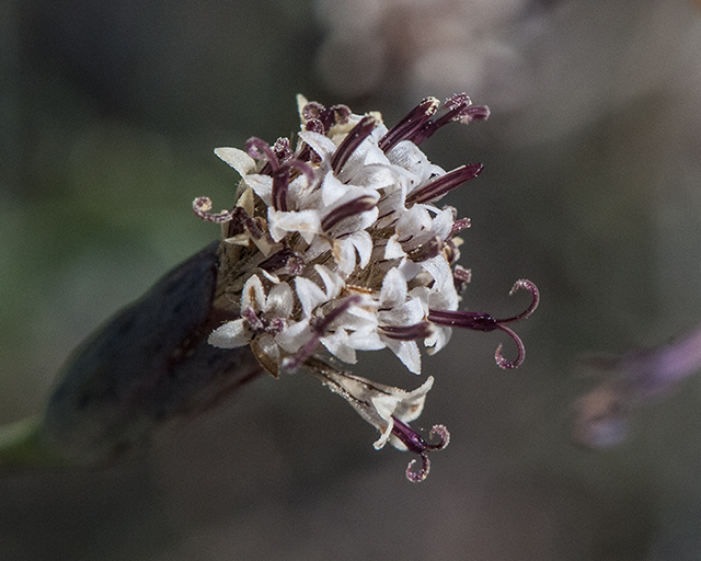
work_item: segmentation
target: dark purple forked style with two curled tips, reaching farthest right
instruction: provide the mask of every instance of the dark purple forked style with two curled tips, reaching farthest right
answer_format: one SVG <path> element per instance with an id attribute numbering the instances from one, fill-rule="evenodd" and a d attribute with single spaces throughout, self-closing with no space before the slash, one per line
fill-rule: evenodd
<path id="1" fill-rule="evenodd" d="M 538 304 L 540 302 L 540 293 L 538 291 L 538 287 L 533 283 L 526 279 L 517 280 L 512 287 L 509 295 L 513 295 L 519 288 L 526 288 L 528 291 L 530 291 L 532 301 L 524 312 L 519 313 L 518 316 L 514 316 L 513 318 L 497 320 L 489 313 L 484 312 L 429 309 L 428 321 L 437 325 L 445 325 L 448 328 L 463 328 L 473 331 L 503 331 L 516 343 L 516 346 L 518 347 L 518 356 L 516 360 L 507 360 L 502 355 L 502 344 L 499 344 L 499 346 L 496 348 L 496 353 L 494 354 L 494 358 L 496 359 L 496 364 L 498 364 L 502 368 L 516 368 L 521 365 L 524 358 L 526 357 L 526 347 L 524 346 L 524 343 L 519 339 L 519 336 L 505 325 L 507 323 L 514 323 L 515 321 L 528 318 L 531 313 L 533 313 L 533 311 L 538 307 Z"/>

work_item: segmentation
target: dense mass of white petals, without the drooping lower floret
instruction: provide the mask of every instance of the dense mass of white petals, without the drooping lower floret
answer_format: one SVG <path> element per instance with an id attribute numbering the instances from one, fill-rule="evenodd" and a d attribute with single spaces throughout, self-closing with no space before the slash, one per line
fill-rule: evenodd
<path id="1" fill-rule="evenodd" d="M 307 102 L 299 103 L 301 112 Z M 225 244 L 251 243 L 263 260 L 292 250 L 300 266 L 297 274 L 283 266 L 260 268 L 249 276 L 235 310 L 241 318 L 216 330 L 209 337 L 212 345 L 231 348 L 255 339 L 268 355 L 265 364 L 285 366 L 297 365 L 295 356 L 311 341 L 350 364 L 356 351 L 389 347 L 406 368 L 420 374 L 421 354 L 414 341 L 418 337 L 405 340 L 397 328 L 414 327 L 405 330 L 406 336 L 425 335 L 429 353 L 448 342 L 450 328 L 424 322 L 429 308 L 458 307 L 451 271 L 455 244 L 447 245 L 455 210 L 406 203 L 446 172 L 410 140 L 382 151 L 378 142 L 387 127 L 378 115 L 365 118 L 375 126 L 341 169 L 334 168 L 334 154 L 364 117 L 350 114 L 326 135 L 299 133 L 298 152 L 309 146 L 319 161 L 310 167 L 313 175 L 299 173 L 289 181 L 286 210 L 273 203 L 274 178 L 260 173 L 265 160 L 256 163 L 235 148 L 215 150 L 243 178 L 238 205 L 250 216 L 256 204 L 266 209 L 265 236 L 256 238 L 246 230 L 226 238 Z M 334 316 L 334 310 L 343 311 Z M 324 322 L 330 316 L 334 319 Z M 320 323 L 323 334 L 318 333 Z"/>

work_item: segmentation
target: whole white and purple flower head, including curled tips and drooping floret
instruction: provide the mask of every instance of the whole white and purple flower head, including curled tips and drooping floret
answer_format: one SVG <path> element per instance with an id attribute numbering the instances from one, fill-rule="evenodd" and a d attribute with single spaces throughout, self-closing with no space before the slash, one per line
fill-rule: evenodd
<path id="1" fill-rule="evenodd" d="M 497 364 L 522 362 L 524 345 L 505 324 L 535 310 L 538 289 L 518 280 L 513 290 L 526 288 L 532 304 L 506 320 L 458 311 L 470 273 L 456 265 L 457 234 L 469 221 L 436 206 L 476 178 L 482 164 L 446 172 L 418 148 L 441 126 L 484 119 L 489 110 L 458 94 L 439 114 L 440 103 L 428 98 L 388 129 L 376 113 L 355 115 L 301 96 L 298 104 L 301 130 L 294 149 L 287 138 L 269 146 L 253 137 L 245 150 L 215 150 L 242 178 L 231 210 L 210 213 L 207 197 L 193 203 L 200 218 L 222 225 L 215 308 L 229 321 L 209 342 L 250 345 L 275 376 L 301 367 L 321 377 L 380 431 L 376 447 L 389 440 L 420 454 L 422 470 L 407 477 L 422 480 L 426 450 L 448 443 L 445 427 L 434 427 L 440 442 L 429 445 L 406 424 L 421 413 L 433 378 L 405 392 L 344 373 L 320 352 L 354 364 L 357 351 L 388 347 L 420 374 L 418 342 L 434 354 L 453 327 L 462 327 L 504 331 L 518 355 L 505 359 L 499 345 Z"/>

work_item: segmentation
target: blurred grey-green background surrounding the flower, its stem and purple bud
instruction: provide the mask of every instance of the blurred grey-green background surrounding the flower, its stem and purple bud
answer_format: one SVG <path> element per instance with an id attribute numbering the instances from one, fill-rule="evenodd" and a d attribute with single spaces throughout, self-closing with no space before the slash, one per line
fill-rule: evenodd
<path id="1" fill-rule="evenodd" d="M 571 442 L 585 352 L 701 322 L 701 5 L 691 0 L 3 0 L 0 422 L 37 414 L 73 348 L 218 236 L 211 152 L 298 129 L 295 94 L 389 125 L 427 95 L 492 116 L 423 148 L 484 162 L 445 201 L 472 219 L 463 308 L 418 426 L 452 443 L 430 477 L 311 378 L 264 377 L 96 471 L 0 480 L 8 560 L 701 559 L 701 380 L 636 412 L 621 446 Z M 505 353 L 515 350 L 505 341 Z M 417 387 L 391 355 L 355 373 Z M 507 356 L 510 356 L 507 354 Z M 423 425 L 422 425 L 423 423 Z"/>

